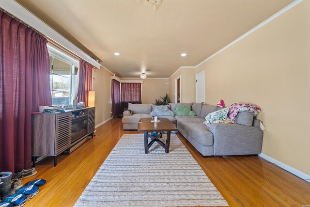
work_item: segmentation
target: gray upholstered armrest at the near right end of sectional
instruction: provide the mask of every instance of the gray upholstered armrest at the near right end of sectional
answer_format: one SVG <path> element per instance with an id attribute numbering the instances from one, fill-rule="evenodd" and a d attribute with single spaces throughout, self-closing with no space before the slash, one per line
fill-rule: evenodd
<path id="1" fill-rule="evenodd" d="M 211 124 L 214 155 L 257 155 L 262 151 L 263 131 L 253 126 Z"/>

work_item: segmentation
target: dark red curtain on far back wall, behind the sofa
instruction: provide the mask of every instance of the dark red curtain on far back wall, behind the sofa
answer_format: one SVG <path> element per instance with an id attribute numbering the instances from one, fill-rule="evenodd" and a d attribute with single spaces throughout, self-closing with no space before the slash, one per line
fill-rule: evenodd
<path id="1" fill-rule="evenodd" d="M 128 103 L 141 103 L 141 83 L 121 84 L 121 111 L 128 108 Z"/>

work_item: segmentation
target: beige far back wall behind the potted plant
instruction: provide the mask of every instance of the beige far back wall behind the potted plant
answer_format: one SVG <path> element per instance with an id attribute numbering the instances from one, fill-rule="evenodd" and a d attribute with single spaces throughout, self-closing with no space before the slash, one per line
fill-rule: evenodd
<path id="1" fill-rule="evenodd" d="M 141 80 L 121 78 L 121 80 Z M 142 84 L 142 104 L 155 103 L 155 98 L 169 96 L 169 79 L 144 79 Z"/>

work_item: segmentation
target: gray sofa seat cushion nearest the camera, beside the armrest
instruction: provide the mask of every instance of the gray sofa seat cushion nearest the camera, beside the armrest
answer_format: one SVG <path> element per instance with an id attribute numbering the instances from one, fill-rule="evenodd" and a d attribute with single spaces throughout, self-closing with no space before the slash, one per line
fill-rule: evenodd
<path id="1" fill-rule="evenodd" d="M 186 123 L 185 132 L 203 146 L 213 145 L 213 134 L 204 124 Z"/>

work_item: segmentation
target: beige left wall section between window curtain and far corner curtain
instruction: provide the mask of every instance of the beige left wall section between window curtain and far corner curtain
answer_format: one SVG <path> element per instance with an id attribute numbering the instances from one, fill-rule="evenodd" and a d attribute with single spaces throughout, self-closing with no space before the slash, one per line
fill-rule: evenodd
<path id="1" fill-rule="evenodd" d="M 101 124 L 111 115 L 111 73 L 104 68 L 93 70 L 93 91 L 95 91 L 96 121 Z"/>

